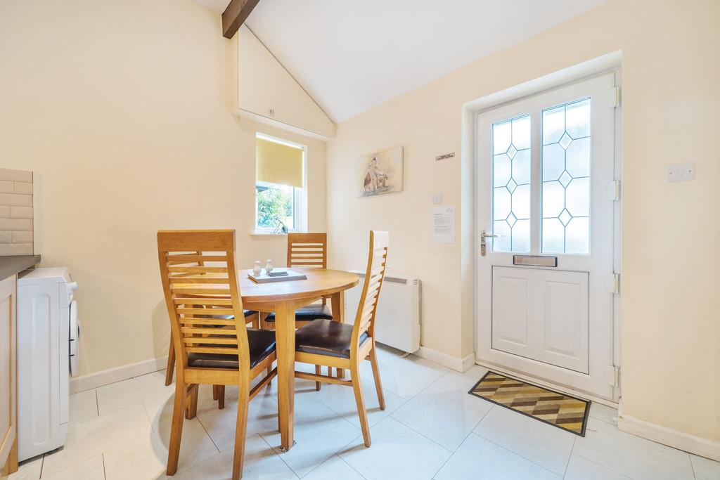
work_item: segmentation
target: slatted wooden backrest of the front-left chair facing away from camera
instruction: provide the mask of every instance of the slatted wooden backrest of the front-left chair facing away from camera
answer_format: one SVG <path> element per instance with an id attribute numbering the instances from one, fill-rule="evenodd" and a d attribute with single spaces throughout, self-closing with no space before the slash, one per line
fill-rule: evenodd
<path id="1" fill-rule="evenodd" d="M 188 353 L 237 355 L 240 368 L 249 368 L 235 230 L 161 230 L 158 258 L 178 374 Z M 233 318 L 214 317 L 222 315 Z"/>

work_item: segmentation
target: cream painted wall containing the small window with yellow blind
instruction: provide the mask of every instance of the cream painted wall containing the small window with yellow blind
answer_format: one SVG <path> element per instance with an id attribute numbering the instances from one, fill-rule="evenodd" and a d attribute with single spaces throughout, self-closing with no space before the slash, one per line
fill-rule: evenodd
<path id="1" fill-rule="evenodd" d="M 192 0 L 0 2 L 0 166 L 40 177 L 42 265 L 80 285 L 81 373 L 166 354 L 156 230 L 235 228 L 239 266 L 284 263 L 284 237 L 248 235 L 256 130 L 307 145 L 325 230 L 325 143 L 231 114 L 234 45 Z"/>

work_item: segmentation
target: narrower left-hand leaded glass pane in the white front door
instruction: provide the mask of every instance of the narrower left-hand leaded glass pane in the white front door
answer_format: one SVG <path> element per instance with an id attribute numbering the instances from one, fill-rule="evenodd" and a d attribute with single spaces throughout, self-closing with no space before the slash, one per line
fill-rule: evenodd
<path id="1" fill-rule="evenodd" d="M 530 251 L 530 115 L 492 124 L 492 242 Z"/>

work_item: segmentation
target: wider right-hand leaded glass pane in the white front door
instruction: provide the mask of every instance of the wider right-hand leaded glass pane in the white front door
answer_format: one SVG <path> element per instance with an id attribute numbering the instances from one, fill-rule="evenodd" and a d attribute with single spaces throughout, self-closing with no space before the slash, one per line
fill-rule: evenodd
<path id="1" fill-rule="evenodd" d="M 590 99 L 542 112 L 542 252 L 590 253 Z"/>

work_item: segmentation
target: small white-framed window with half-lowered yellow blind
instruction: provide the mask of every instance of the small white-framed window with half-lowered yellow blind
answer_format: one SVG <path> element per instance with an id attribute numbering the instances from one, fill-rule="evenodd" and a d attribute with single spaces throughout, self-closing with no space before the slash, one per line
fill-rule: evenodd
<path id="1" fill-rule="evenodd" d="M 255 231 L 307 230 L 305 146 L 256 135 Z"/>

